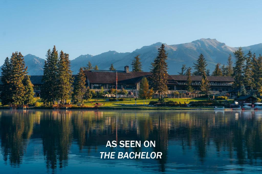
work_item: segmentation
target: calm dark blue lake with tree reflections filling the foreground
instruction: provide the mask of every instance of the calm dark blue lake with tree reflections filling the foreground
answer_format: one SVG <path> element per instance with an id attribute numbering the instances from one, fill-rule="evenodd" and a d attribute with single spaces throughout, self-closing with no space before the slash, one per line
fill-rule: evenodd
<path id="1" fill-rule="evenodd" d="M 0 145 L 0 173 L 262 173 L 262 111 L 0 110 Z"/>

